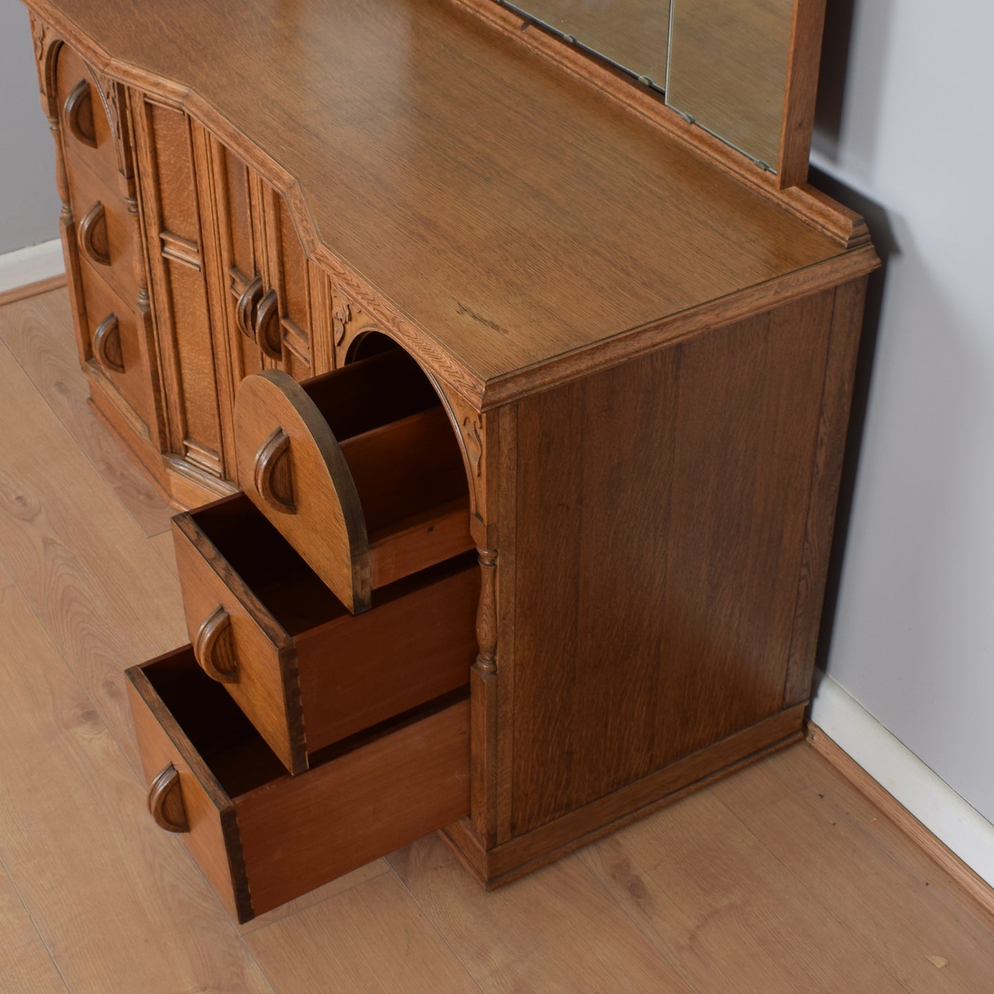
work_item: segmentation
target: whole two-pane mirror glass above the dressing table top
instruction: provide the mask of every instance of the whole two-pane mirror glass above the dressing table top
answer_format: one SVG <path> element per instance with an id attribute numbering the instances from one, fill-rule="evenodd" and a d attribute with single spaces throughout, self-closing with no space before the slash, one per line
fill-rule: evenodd
<path id="1" fill-rule="evenodd" d="M 521 0 L 564 41 L 664 92 L 666 103 L 775 172 L 795 0 Z"/>

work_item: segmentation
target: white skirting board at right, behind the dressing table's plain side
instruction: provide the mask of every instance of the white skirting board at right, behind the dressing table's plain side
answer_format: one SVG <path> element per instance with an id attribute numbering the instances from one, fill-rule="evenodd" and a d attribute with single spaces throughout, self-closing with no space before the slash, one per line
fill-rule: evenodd
<path id="1" fill-rule="evenodd" d="M 811 721 L 994 887 L 994 825 L 821 670 Z"/>

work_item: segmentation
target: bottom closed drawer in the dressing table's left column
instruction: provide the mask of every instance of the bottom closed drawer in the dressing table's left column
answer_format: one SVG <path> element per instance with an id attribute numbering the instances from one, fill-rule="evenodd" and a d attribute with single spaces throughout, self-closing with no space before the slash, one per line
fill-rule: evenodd
<path id="1" fill-rule="evenodd" d="M 91 266 L 81 265 L 80 275 L 93 359 L 147 427 L 153 422 L 153 402 L 142 325 L 132 308 Z"/>

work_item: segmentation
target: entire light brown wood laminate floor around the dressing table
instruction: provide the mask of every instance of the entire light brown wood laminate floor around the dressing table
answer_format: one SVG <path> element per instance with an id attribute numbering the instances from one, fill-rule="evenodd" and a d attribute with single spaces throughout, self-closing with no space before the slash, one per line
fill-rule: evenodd
<path id="1" fill-rule="evenodd" d="M 169 512 L 67 297 L 0 308 L 0 992 L 994 991 L 994 919 L 809 745 L 485 894 L 435 837 L 247 926 L 144 807 L 121 671 L 186 641 Z"/>

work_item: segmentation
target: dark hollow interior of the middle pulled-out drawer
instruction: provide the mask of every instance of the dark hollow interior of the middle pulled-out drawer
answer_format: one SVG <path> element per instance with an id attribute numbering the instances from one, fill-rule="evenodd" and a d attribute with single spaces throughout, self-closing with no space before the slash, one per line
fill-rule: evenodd
<path id="1" fill-rule="evenodd" d="M 191 513 L 204 534 L 291 637 L 350 614 L 345 605 L 243 493 Z M 374 606 L 475 563 L 463 553 L 380 587 Z"/>

